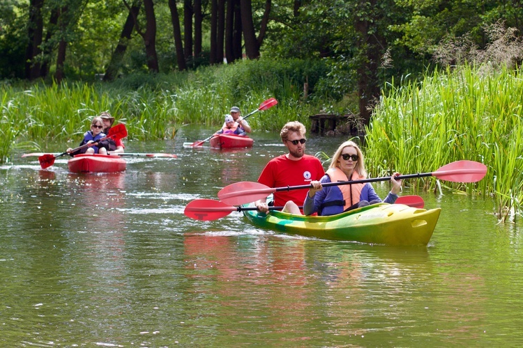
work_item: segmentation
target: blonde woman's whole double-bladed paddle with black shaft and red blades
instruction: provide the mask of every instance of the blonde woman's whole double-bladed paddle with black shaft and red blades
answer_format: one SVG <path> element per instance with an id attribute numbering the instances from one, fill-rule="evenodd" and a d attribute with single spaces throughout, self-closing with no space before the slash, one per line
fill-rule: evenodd
<path id="1" fill-rule="evenodd" d="M 476 161 L 455 161 L 450 164 L 442 166 L 437 171 L 432 173 L 418 173 L 418 174 L 409 174 L 409 175 L 399 175 L 397 179 L 411 179 L 416 177 L 427 177 L 434 176 L 441 180 L 446 180 L 450 182 L 478 182 L 487 173 L 487 166 Z M 378 182 L 378 181 L 388 181 L 391 180 L 391 177 L 374 177 L 369 179 L 362 180 L 352 180 L 352 181 L 340 181 L 340 182 L 327 182 L 322 184 L 323 187 L 328 186 L 338 186 L 346 184 L 361 184 L 365 182 Z M 230 184 L 227 187 L 218 192 L 218 198 L 222 202 L 230 205 L 242 205 L 245 203 L 255 202 L 256 200 L 266 198 L 269 194 L 278 192 L 278 191 L 290 191 L 296 189 L 310 189 L 312 186 L 308 185 L 298 185 L 290 187 L 277 187 L 271 188 L 267 187 L 264 184 L 259 184 L 258 182 L 236 182 L 235 184 Z"/>

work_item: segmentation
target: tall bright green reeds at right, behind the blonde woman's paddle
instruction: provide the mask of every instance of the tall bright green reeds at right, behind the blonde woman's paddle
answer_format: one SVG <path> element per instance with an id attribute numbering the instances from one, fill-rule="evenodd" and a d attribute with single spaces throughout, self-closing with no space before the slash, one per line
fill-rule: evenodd
<path id="1" fill-rule="evenodd" d="M 467 65 L 434 72 L 420 84 L 391 83 L 367 129 L 368 166 L 380 174 L 423 173 L 460 159 L 480 161 L 488 167 L 480 182 L 441 183 L 494 195 L 499 219 L 521 214 L 522 97 L 519 69 Z M 436 188 L 431 179 L 406 184 Z"/>

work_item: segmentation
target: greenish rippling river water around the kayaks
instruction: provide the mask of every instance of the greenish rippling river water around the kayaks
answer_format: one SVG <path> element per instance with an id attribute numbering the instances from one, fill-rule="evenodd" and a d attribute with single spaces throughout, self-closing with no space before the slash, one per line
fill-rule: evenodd
<path id="1" fill-rule="evenodd" d="M 250 150 L 183 148 L 211 132 L 127 142 L 178 157 L 128 157 L 124 173 L 21 154 L 0 167 L 3 347 L 523 344 L 521 225 L 498 224 L 492 200 L 417 192 L 442 208 L 424 247 L 284 235 L 238 212 L 195 221 L 191 200 L 256 181 L 285 152 L 266 133 Z M 343 140 L 310 136 L 308 153 Z"/>

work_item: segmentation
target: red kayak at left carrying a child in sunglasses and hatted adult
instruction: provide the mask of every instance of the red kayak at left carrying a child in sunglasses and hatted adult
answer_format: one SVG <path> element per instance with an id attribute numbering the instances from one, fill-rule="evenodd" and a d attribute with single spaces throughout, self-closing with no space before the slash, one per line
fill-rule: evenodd
<path id="1" fill-rule="evenodd" d="M 73 173 L 113 173 L 126 170 L 126 160 L 110 155 L 76 155 L 67 163 Z"/>

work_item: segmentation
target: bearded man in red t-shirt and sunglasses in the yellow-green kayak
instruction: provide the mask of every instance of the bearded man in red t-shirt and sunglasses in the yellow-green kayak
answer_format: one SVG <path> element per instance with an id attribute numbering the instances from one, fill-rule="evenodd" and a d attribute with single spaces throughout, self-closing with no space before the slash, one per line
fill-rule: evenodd
<path id="1" fill-rule="evenodd" d="M 259 175 L 258 182 L 268 187 L 286 187 L 310 184 L 325 175 L 319 159 L 305 155 L 305 126 L 301 122 L 287 122 L 280 136 L 289 153 L 271 159 Z M 308 189 L 278 191 L 274 193 L 274 205 L 284 206 L 283 212 L 301 214 L 298 205 L 303 205 Z M 267 212 L 266 199 L 257 200 L 260 212 Z"/>

